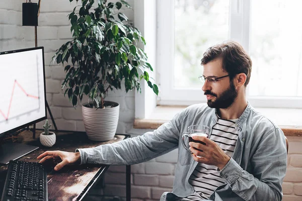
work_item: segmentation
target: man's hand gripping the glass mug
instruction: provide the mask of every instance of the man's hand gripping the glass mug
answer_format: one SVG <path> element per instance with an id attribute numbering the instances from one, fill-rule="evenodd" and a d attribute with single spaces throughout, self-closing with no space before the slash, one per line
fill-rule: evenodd
<path id="1" fill-rule="evenodd" d="M 198 140 L 206 144 L 203 145 L 195 142 L 189 143 L 190 150 L 193 153 L 192 155 L 195 161 L 207 165 L 215 165 L 220 170 L 230 161 L 231 157 L 226 155 L 214 141 L 204 136 L 193 136 L 192 138 L 193 140 Z M 200 149 L 202 152 L 196 149 Z M 201 156 L 201 158 L 196 156 Z"/>

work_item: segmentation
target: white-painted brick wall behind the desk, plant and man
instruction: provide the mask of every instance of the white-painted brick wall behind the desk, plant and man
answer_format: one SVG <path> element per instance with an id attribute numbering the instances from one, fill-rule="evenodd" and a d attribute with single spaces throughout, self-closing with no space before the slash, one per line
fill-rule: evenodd
<path id="1" fill-rule="evenodd" d="M 25 1 L 23 1 L 25 2 Z M 116 1 L 114 1 L 116 2 Z M 133 0 L 128 1 L 130 5 Z M 54 51 L 71 39 L 67 15 L 75 6 L 68 0 L 41 2 L 38 27 L 38 46 L 45 48 L 45 70 L 47 79 L 47 100 L 58 129 L 84 131 L 81 107 L 75 110 L 64 98 L 60 84 L 64 79 L 61 65 L 51 63 Z M 125 14 L 133 21 L 133 10 Z M 34 47 L 34 28 L 22 27 L 22 2 L 0 1 L 0 51 Z M 151 130 L 132 128 L 134 120 L 134 92 L 125 90 L 109 92 L 107 100 L 120 104 L 118 133 L 137 136 Z M 41 128 L 42 123 L 37 124 Z M 302 200 L 302 137 L 288 137 L 288 169 L 283 182 L 285 201 Z M 159 200 L 164 191 L 171 191 L 174 179 L 177 150 L 148 162 L 131 166 L 131 190 L 133 201 Z M 106 187 L 97 194 L 125 197 L 125 167 L 111 166 L 105 176 Z"/>

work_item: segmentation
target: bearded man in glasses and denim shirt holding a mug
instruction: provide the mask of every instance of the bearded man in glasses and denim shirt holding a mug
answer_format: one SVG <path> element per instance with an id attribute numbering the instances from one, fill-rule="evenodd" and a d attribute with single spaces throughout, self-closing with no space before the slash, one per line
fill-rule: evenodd
<path id="1" fill-rule="evenodd" d="M 190 106 L 142 136 L 75 153 L 47 151 L 38 159 L 61 158 L 55 170 L 77 161 L 129 165 L 178 148 L 173 191 L 165 192 L 161 200 L 281 200 L 285 136 L 247 102 L 250 57 L 240 44 L 228 41 L 209 48 L 201 64 L 199 78 L 208 106 Z M 195 137 L 205 145 L 190 142 L 192 154 L 180 142 L 190 125 L 210 128 L 208 138 Z"/>

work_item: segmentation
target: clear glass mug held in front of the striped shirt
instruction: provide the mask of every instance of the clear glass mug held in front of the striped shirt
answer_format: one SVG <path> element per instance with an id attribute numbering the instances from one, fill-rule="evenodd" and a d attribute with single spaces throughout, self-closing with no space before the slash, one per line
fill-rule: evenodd
<path id="1" fill-rule="evenodd" d="M 189 142 L 196 142 L 196 143 L 200 143 L 200 144 L 205 145 L 204 142 L 201 142 L 201 141 L 198 141 L 198 140 L 193 140 L 192 137 L 193 137 L 193 136 L 197 136 L 197 135 L 198 135 L 198 136 L 208 137 L 208 135 L 209 135 L 209 127 L 208 127 L 208 126 L 205 126 L 205 125 L 192 125 L 192 126 L 189 126 L 189 127 L 188 127 L 188 131 L 189 131 L 189 132 L 184 132 L 184 133 L 182 134 L 181 142 L 182 142 L 184 148 L 185 148 L 188 152 L 190 152 L 190 153 L 192 154 L 192 152 L 191 152 L 191 150 L 189 149 L 189 147 L 187 147 L 187 145 L 185 144 L 185 137 L 188 137 L 188 138 L 189 138 Z M 198 150 L 198 151 L 202 151 L 202 150 L 200 150 L 200 149 L 197 149 L 197 150 Z M 199 157 L 199 156 L 197 156 L 197 157 Z"/>

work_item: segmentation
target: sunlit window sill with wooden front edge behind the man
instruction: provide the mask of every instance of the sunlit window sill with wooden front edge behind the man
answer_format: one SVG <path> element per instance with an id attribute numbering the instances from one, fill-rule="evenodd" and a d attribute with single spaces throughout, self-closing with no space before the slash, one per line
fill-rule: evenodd
<path id="1" fill-rule="evenodd" d="M 133 128 L 157 129 L 185 108 L 186 106 L 158 106 L 148 118 L 135 119 Z M 302 136 L 302 109 L 256 108 L 256 110 L 277 124 L 285 136 Z"/>

